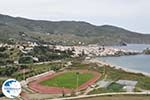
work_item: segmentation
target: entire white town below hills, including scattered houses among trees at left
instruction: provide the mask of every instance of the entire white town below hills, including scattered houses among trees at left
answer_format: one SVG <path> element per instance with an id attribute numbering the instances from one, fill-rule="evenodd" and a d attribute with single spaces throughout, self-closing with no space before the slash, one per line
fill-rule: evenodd
<path id="1" fill-rule="evenodd" d="M 30 54 L 30 52 L 32 52 L 34 48 L 36 49 L 36 47 L 41 47 L 41 48 L 46 47 L 47 49 L 52 51 L 57 51 L 57 50 L 61 52 L 70 51 L 72 53 L 71 57 L 79 57 L 81 55 L 84 55 L 86 59 L 90 59 L 96 56 L 121 56 L 121 55 L 136 55 L 141 53 L 133 50 L 124 50 L 124 49 L 118 49 L 109 46 L 105 47 L 104 45 L 103 46 L 99 46 L 99 45 L 62 46 L 62 45 L 37 44 L 36 42 L 30 42 L 30 41 L 26 43 L 14 44 L 14 45 L 7 44 L 7 43 L 0 44 L 0 48 L 8 49 L 8 50 L 15 49 L 16 52 L 22 53 L 22 56 L 28 57 L 35 62 L 40 62 L 37 56 Z M 1 55 L 3 55 L 3 53 L 1 53 Z M 57 55 L 60 55 L 60 53 L 57 53 Z M 19 59 L 14 59 L 13 63 L 19 64 Z"/>

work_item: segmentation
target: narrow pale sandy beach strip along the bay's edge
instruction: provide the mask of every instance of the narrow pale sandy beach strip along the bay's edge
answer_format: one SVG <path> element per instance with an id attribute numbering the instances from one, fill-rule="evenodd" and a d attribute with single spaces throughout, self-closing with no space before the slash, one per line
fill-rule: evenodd
<path id="1" fill-rule="evenodd" d="M 110 66 L 112 68 L 115 68 L 117 70 L 122 69 L 123 71 L 129 72 L 129 73 L 143 74 L 145 76 L 150 76 L 150 73 L 148 73 L 148 72 L 143 72 L 143 71 L 138 71 L 138 70 L 134 70 L 134 69 L 125 68 L 125 67 L 122 67 L 122 66 L 113 65 L 113 64 L 106 63 L 104 61 L 98 60 L 96 58 L 90 59 L 89 62 L 98 63 L 98 64 L 101 64 L 101 65 L 108 65 L 108 66 Z"/>

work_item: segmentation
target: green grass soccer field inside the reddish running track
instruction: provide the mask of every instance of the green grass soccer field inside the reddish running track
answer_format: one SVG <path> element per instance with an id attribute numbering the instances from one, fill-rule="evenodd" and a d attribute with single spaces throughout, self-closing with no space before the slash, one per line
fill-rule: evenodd
<path id="1" fill-rule="evenodd" d="M 87 82 L 88 80 L 94 77 L 93 73 L 77 73 L 77 72 L 65 72 L 61 75 L 55 76 L 51 79 L 44 80 L 40 84 L 45 86 L 53 87 L 64 87 L 69 89 L 75 89 L 77 86 L 80 86 Z"/>

